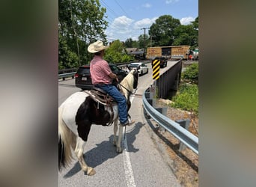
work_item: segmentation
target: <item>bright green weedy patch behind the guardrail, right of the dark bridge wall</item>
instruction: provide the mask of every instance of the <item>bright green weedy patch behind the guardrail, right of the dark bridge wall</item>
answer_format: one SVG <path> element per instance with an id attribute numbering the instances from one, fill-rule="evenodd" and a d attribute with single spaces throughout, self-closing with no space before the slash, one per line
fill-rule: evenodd
<path id="1" fill-rule="evenodd" d="M 171 107 L 198 114 L 198 85 L 180 85 L 180 91 L 172 101 Z"/>

